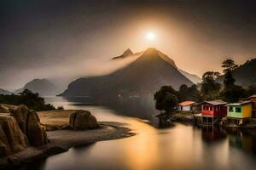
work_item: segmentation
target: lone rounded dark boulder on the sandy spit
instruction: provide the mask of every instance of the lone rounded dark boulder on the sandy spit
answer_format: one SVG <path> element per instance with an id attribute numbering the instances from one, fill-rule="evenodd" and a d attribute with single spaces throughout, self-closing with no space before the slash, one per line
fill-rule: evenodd
<path id="1" fill-rule="evenodd" d="M 69 126 L 74 130 L 85 130 L 97 128 L 98 123 L 95 116 L 90 111 L 74 111 L 69 117 Z"/>

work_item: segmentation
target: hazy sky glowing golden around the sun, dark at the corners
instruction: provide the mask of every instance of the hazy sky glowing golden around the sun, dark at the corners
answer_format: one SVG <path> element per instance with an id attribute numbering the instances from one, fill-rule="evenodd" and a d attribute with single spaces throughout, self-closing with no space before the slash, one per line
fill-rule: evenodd
<path id="1" fill-rule="evenodd" d="M 0 88 L 90 75 L 126 48 L 158 48 L 199 76 L 221 71 L 227 57 L 241 64 L 256 56 L 253 2 L 1 0 Z"/>

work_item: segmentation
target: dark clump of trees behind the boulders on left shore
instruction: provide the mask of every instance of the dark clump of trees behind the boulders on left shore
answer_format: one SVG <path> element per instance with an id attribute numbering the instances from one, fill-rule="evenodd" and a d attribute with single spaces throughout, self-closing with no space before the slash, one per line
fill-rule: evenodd
<path id="1" fill-rule="evenodd" d="M 40 98 L 38 94 L 25 89 L 20 94 L 3 95 L 0 94 L 0 103 L 8 105 L 26 105 L 29 109 L 35 111 L 55 110 L 53 105 L 45 104 L 44 98 Z"/>

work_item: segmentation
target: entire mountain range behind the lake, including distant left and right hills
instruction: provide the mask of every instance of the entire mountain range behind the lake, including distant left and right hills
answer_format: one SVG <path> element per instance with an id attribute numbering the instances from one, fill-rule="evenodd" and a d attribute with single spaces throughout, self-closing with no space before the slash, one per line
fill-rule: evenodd
<path id="1" fill-rule="evenodd" d="M 98 96 L 111 94 L 145 95 L 153 94 L 163 85 L 171 85 L 179 88 L 181 84 L 192 85 L 201 82 L 201 78 L 177 68 L 173 59 L 169 58 L 155 48 L 132 53 L 131 49 L 112 60 L 128 59 L 128 65 L 113 71 L 108 75 L 83 77 L 71 82 L 62 94 L 63 96 Z M 116 63 L 114 63 L 115 65 Z M 243 87 L 256 85 L 256 59 L 248 60 L 240 65 L 233 76 L 236 84 Z M 218 82 L 223 82 L 223 76 L 218 77 Z M 56 95 L 60 89 L 47 79 L 34 79 L 27 82 L 23 88 L 14 92 L 18 94 L 24 89 L 30 89 L 40 96 Z M 12 94 L 8 90 L 0 88 L 0 94 Z"/>

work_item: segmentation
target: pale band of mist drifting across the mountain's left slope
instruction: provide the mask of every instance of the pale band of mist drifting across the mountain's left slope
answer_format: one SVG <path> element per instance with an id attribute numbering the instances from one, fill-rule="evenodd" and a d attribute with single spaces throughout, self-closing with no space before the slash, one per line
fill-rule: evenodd
<path id="1" fill-rule="evenodd" d="M 14 70 L 10 74 L 12 77 L 5 80 L 8 83 L 14 84 L 11 87 L 6 87 L 10 91 L 22 88 L 26 82 L 36 78 L 47 78 L 53 82 L 61 93 L 67 89 L 69 82 L 80 77 L 95 77 L 112 73 L 125 65 L 129 65 L 133 60 L 137 59 L 137 55 L 127 56 L 125 59 L 84 59 L 79 62 L 70 62 L 68 64 L 51 65 L 37 69 L 26 69 L 23 71 Z M 19 72 L 17 74 L 16 72 Z"/>

